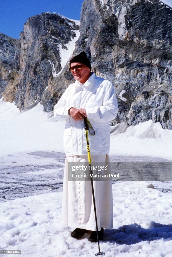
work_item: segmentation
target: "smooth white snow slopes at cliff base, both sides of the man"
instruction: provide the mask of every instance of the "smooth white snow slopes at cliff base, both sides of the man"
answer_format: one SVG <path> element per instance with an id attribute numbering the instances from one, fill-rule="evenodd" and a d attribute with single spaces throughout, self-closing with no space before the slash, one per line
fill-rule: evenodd
<path id="1" fill-rule="evenodd" d="M 0 99 L 0 156 L 29 151 L 64 152 L 65 123 L 56 122 L 53 112 L 46 113 L 38 103 L 20 112 L 14 103 Z M 24 143 L 23 143 L 24 142 Z M 111 134 L 110 154 L 152 156 L 172 160 L 172 130 L 163 130 L 152 120 Z"/>

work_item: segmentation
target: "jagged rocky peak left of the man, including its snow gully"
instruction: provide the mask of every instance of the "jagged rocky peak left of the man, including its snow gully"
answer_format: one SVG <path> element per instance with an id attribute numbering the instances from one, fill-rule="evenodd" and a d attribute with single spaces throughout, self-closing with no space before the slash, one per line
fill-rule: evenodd
<path id="1" fill-rule="evenodd" d="M 30 17 L 17 45 L 15 66 L 18 65 L 18 75 L 12 86 L 6 82 L 2 94 L 4 100 L 14 101 L 21 110 L 41 102 L 46 111 L 52 111 L 66 84 L 58 85 L 58 76 L 70 58 L 78 36 L 79 26 L 61 15 L 42 13 Z M 14 56 L 15 47 L 12 47 L 11 56 Z M 61 58 L 62 53 L 65 58 Z"/>

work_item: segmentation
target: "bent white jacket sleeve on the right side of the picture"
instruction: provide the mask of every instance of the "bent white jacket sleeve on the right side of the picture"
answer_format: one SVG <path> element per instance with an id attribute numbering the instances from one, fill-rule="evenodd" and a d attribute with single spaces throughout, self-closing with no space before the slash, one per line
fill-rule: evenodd
<path id="1" fill-rule="evenodd" d="M 118 113 L 118 103 L 115 89 L 110 81 L 104 80 L 103 104 L 92 108 L 86 108 L 87 117 L 96 122 L 108 122 L 113 120 Z"/>

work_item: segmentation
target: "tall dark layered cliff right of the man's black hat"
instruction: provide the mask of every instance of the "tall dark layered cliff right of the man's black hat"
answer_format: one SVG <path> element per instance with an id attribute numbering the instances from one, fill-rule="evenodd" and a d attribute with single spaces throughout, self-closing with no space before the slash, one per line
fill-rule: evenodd
<path id="1" fill-rule="evenodd" d="M 85 49 L 92 69 L 116 88 L 111 124 L 152 119 L 172 129 L 172 10 L 153 0 L 87 0 L 80 23 L 75 52 Z"/>

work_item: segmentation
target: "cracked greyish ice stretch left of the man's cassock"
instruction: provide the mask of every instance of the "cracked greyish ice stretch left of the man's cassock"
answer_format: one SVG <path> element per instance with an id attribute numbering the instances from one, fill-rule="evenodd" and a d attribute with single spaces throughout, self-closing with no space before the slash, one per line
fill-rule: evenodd
<path id="1" fill-rule="evenodd" d="M 44 151 L 1 157 L 0 202 L 62 191 L 64 160 L 63 153 Z"/>

